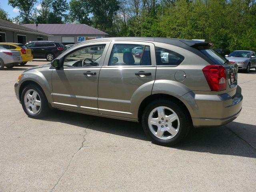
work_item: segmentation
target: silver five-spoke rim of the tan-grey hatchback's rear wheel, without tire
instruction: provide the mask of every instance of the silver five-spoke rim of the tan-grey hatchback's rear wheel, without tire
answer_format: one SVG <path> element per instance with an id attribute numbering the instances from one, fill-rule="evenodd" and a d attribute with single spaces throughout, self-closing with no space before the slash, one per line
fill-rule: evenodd
<path id="1" fill-rule="evenodd" d="M 148 126 L 154 136 L 162 140 L 168 140 L 178 134 L 180 120 L 174 110 L 165 106 L 159 106 L 150 112 Z"/>

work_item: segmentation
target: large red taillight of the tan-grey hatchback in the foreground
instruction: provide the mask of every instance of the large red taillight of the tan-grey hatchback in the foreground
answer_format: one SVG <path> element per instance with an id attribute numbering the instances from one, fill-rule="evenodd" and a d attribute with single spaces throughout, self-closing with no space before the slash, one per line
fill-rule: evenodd
<path id="1" fill-rule="evenodd" d="M 212 91 L 222 91 L 226 89 L 226 72 L 223 66 L 208 65 L 202 70 Z"/>

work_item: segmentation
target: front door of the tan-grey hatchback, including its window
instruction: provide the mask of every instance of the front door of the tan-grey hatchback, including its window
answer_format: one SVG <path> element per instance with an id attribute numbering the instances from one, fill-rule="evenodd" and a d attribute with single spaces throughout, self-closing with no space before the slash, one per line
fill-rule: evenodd
<path id="1" fill-rule="evenodd" d="M 98 77 L 109 44 L 82 44 L 60 59 L 63 66 L 52 72 L 52 97 L 57 108 L 98 113 Z"/>

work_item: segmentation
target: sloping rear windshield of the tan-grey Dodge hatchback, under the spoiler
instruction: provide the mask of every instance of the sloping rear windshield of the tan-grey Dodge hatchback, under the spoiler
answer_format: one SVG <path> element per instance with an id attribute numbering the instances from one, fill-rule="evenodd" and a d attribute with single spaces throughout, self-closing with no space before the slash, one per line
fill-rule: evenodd
<path id="1" fill-rule="evenodd" d="M 200 50 L 200 52 L 202 52 L 216 64 L 222 65 L 226 62 L 226 58 L 224 58 L 221 54 L 219 54 L 209 46 L 198 46 L 197 49 Z"/>

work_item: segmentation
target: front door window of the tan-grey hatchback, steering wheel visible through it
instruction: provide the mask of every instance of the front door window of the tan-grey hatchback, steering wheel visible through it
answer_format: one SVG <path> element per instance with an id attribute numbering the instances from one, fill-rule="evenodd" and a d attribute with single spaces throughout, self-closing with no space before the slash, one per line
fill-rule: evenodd
<path id="1" fill-rule="evenodd" d="M 86 46 L 68 54 L 63 68 L 99 66 L 106 44 Z"/>

